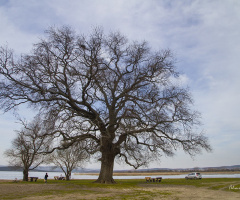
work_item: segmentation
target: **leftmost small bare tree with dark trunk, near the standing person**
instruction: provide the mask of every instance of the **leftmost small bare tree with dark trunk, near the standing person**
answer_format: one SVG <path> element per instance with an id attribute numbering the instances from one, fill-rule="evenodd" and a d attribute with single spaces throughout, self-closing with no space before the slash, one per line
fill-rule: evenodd
<path id="1" fill-rule="evenodd" d="M 48 151 L 51 139 L 42 136 L 45 132 L 39 118 L 29 124 L 23 123 L 24 128 L 17 132 L 12 142 L 12 148 L 4 152 L 9 158 L 9 165 L 23 169 L 23 181 L 28 181 L 28 172 L 42 164 Z"/>

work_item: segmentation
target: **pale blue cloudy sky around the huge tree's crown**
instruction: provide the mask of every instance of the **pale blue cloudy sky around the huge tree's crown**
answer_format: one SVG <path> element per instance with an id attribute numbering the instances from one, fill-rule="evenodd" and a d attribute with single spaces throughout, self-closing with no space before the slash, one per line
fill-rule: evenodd
<path id="1" fill-rule="evenodd" d="M 170 49 L 181 80 L 213 148 L 191 158 L 181 150 L 151 168 L 240 165 L 240 1 L 239 0 L 0 0 L 0 46 L 28 53 L 50 26 L 69 25 L 88 34 L 100 26 L 153 49 Z M 21 117 L 31 117 L 25 109 Z M 0 165 L 20 125 L 0 111 Z M 92 162 L 85 167 L 99 168 Z M 131 169 L 115 165 L 115 169 Z"/>

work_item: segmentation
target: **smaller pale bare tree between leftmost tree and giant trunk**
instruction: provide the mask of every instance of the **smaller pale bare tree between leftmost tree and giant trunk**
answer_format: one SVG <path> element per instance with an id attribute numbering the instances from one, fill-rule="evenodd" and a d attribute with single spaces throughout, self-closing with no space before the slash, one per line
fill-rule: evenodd
<path id="1" fill-rule="evenodd" d="M 77 167 L 82 167 L 89 159 L 83 142 L 73 144 L 67 149 L 57 149 L 49 156 L 50 161 L 62 169 L 67 181 L 70 180 L 72 171 Z"/>

